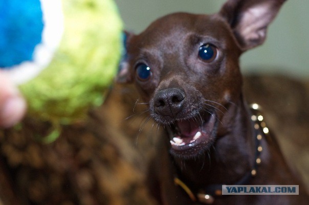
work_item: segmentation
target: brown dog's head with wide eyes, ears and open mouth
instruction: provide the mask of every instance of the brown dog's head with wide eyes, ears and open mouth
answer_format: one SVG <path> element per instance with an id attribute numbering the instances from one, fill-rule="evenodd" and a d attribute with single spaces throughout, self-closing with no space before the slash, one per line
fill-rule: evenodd
<path id="1" fill-rule="evenodd" d="M 239 56 L 264 42 L 283 0 L 230 0 L 213 15 L 175 13 L 128 34 L 117 77 L 136 84 L 169 134 L 171 153 L 194 157 L 233 125 Z M 234 106 L 235 107 L 235 106 Z M 228 113 L 228 114 L 227 114 Z"/>

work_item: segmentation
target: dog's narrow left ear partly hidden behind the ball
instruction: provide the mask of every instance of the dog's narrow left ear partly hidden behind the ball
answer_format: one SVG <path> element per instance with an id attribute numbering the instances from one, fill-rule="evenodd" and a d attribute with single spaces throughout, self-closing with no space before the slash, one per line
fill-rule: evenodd
<path id="1" fill-rule="evenodd" d="M 131 36 L 133 33 L 129 33 L 127 31 L 123 32 L 123 46 L 122 46 L 122 55 L 119 62 L 118 74 L 116 76 L 117 83 L 131 83 L 132 77 L 130 74 L 130 67 L 128 63 L 128 54 L 127 54 L 127 46 Z"/>

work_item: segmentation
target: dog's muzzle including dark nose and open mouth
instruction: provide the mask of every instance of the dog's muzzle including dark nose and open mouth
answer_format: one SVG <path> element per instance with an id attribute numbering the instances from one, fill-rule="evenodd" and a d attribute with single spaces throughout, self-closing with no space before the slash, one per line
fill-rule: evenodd
<path id="1" fill-rule="evenodd" d="M 213 110 L 191 109 L 183 90 L 168 88 L 154 95 L 151 116 L 165 126 L 168 132 L 171 153 L 193 157 L 204 153 L 215 136 L 217 118 Z"/>

